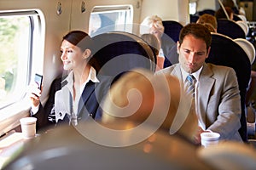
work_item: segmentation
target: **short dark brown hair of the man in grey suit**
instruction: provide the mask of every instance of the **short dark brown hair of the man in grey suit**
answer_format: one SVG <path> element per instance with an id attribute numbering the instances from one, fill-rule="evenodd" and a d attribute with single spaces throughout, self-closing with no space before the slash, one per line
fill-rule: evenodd
<path id="1" fill-rule="evenodd" d="M 179 33 L 179 43 L 183 43 L 184 37 L 187 35 L 192 35 L 193 37 L 202 39 L 207 44 L 207 50 L 210 48 L 212 43 L 212 35 L 206 26 L 201 24 L 190 23 L 184 26 Z"/>

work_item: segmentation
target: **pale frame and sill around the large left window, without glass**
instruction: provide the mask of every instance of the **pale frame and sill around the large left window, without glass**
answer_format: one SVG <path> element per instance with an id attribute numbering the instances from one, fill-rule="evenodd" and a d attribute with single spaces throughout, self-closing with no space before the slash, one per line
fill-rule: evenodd
<path id="1" fill-rule="evenodd" d="M 44 46 L 41 43 L 44 43 L 44 15 L 40 10 L 32 9 L 32 10 L 17 10 L 17 11 L 1 11 L 0 16 L 28 16 L 30 20 L 29 27 L 29 42 L 28 42 L 28 56 L 27 56 L 27 74 L 26 74 L 26 87 L 28 83 L 31 81 L 32 75 L 36 69 L 39 67 L 43 68 L 43 63 L 40 62 L 37 65 L 33 65 L 35 62 L 36 56 L 44 56 Z M 38 66 L 39 65 L 39 66 Z M 41 69 L 43 71 L 43 69 Z M 41 72 L 39 72 L 41 73 Z M 8 105 L 4 105 L 0 108 L 0 136 L 5 133 L 8 133 L 10 130 L 14 129 L 20 124 L 20 118 L 28 116 L 30 110 L 30 101 L 26 98 L 26 89 L 22 94 L 20 94 L 19 98 L 15 98 L 15 100 L 9 102 Z"/>

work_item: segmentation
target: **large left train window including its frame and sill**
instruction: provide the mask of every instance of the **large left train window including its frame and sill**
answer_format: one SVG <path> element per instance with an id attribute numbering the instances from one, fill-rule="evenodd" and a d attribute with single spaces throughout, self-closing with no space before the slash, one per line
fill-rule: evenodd
<path id="1" fill-rule="evenodd" d="M 0 135 L 27 115 L 27 85 L 32 72 L 43 70 L 44 17 L 38 12 L 0 12 Z"/>

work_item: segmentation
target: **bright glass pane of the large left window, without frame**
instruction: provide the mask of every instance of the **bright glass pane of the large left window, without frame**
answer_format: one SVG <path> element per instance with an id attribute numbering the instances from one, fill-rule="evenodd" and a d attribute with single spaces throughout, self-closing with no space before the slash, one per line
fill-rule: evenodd
<path id="1" fill-rule="evenodd" d="M 0 108 L 19 99 L 26 85 L 29 31 L 25 16 L 0 17 Z"/>

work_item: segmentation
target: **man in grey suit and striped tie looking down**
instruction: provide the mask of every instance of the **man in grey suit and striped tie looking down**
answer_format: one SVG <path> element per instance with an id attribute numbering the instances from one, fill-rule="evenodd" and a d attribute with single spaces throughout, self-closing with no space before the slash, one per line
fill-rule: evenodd
<path id="1" fill-rule="evenodd" d="M 212 37 L 206 26 L 184 26 L 177 42 L 179 63 L 156 74 L 167 73 L 184 82 L 195 77 L 195 111 L 199 130 L 195 143 L 205 131 L 220 133 L 220 139 L 241 141 L 241 104 L 236 73 L 232 68 L 207 64 Z M 183 84 L 183 83 L 182 83 Z"/>

